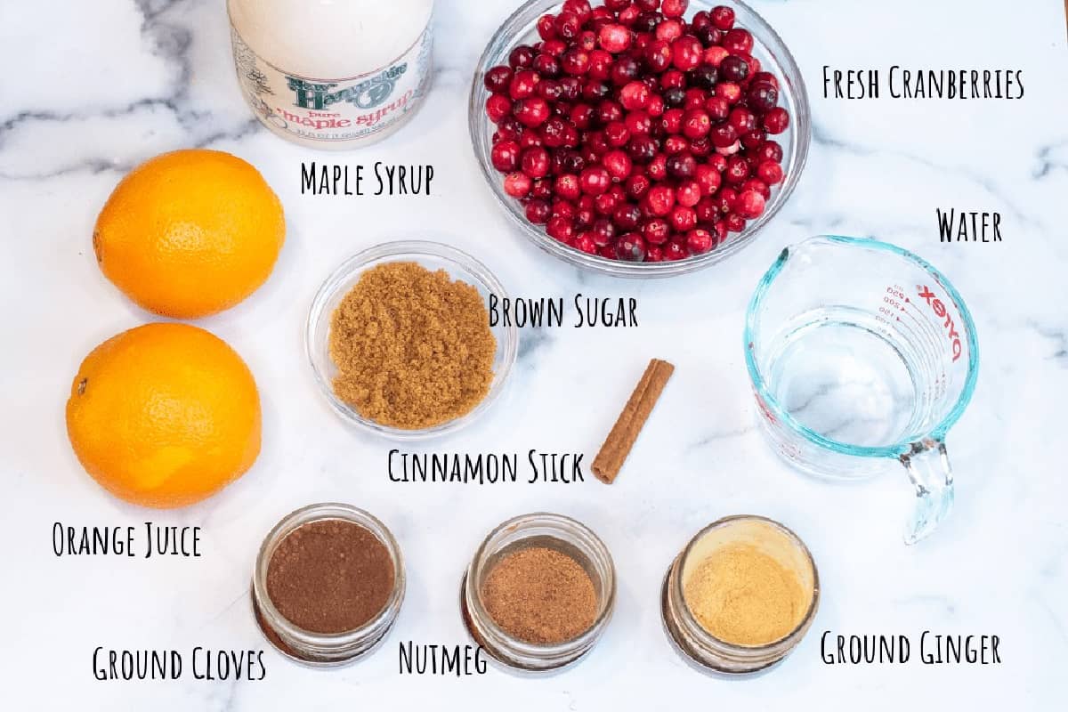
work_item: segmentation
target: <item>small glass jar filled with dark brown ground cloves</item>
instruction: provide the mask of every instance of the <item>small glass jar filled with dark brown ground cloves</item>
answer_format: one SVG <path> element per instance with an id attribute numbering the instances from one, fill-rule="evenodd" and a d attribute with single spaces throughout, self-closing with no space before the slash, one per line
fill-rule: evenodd
<path id="1" fill-rule="evenodd" d="M 335 667 L 371 652 L 404 600 L 405 572 L 393 535 L 345 504 L 298 509 L 270 531 L 252 573 L 252 605 L 280 652 Z"/>

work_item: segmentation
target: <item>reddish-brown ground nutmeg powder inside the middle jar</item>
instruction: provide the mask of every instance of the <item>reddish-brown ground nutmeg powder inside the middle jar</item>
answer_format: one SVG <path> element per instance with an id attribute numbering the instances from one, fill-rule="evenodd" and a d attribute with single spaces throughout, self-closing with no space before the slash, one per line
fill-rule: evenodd
<path id="1" fill-rule="evenodd" d="M 590 574 L 567 554 L 547 547 L 506 554 L 483 582 L 482 601 L 502 630 L 527 643 L 570 640 L 597 618 Z"/>

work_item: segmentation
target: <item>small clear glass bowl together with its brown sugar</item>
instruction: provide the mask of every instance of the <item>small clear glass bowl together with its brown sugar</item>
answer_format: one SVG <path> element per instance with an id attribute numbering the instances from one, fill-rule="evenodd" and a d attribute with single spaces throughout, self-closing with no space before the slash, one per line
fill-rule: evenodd
<path id="1" fill-rule="evenodd" d="M 439 242 L 386 242 L 345 260 L 319 288 L 305 347 L 315 380 L 342 420 L 393 440 L 455 432 L 489 409 L 519 346 L 490 326 L 501 283 L 477 259 Z"/>

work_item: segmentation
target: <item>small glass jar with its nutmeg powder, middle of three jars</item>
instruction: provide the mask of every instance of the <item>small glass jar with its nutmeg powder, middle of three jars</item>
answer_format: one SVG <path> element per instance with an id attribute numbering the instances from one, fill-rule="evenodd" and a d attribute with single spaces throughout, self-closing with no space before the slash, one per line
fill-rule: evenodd
<path id="1" fill-rule="evenodd" d="M 460 607 L 475 643 L 515 670 L 549 673 L 585 655 L 615 606 L 615 567 L 587 527 L 533 513 L 489 533 L 464 576 Z"/>

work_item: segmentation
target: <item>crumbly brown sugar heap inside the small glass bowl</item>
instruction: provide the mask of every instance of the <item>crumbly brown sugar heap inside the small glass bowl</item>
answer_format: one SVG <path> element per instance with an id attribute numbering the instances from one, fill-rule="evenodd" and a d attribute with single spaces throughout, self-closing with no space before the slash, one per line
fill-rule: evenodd
<path id="1" fill-rule="evenodd" d="M 415 263 L 368 269 L 331 320 L 334 393 L 389 427 L 417 430 L 469 413 L 489 392 L 496 354 L 478 290 Z"/>

